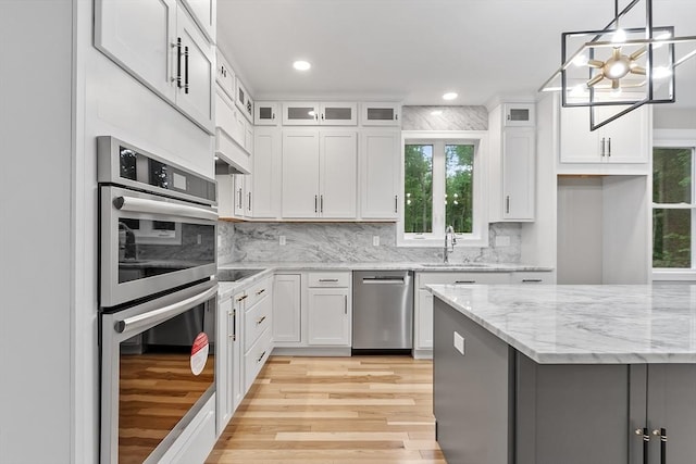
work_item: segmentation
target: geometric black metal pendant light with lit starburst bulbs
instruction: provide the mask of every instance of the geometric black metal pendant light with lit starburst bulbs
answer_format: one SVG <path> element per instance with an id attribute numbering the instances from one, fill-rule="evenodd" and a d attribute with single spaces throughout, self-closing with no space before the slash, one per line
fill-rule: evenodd
<path id="1" fill-rule="evenodd" d="M 646 103 L 673 103 L 675 70 L 694 55 L 696 36 L 652 25 L 651 0 L 632 0 L 622 10 L 614 0 L 604 29 L 561 35 L 561 66 L 539 91 L 558 89 L 560 78 L 562 105 L 589 106 L 595 130 Z"/>

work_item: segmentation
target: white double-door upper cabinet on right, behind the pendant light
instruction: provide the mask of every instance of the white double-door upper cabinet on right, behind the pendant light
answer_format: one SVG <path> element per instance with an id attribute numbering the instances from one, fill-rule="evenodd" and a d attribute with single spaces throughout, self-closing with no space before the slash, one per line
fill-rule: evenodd
<path id="1" fill-rule="evenodd" d="M 623 108 L 599 106 L 595 111 L 598 121 L 601 121 Z M 645 106 L 631 111 L 594 131 L 589 130 L 588 108 L 561 108 L 559 161 L 561 165 L 647 164 L 649 134 L 649 111 Z"/>

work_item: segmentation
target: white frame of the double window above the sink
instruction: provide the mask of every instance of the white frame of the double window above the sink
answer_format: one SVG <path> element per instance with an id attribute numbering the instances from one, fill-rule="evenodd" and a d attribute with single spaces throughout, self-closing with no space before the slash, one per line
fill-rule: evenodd
<path id="1" fill-rule="evenodd" d="M 470 234 L 457 234 L 456 247 L 488 247 L 488 203 L 484 192 L 488 185 L 488 133 L 484 130 L 402 130 L 401 131 L 401 176 L 400 192 L 406 199 L 406 145 L 473 145 L 473 217 Z M 445 192 L 446 164 L 443 155 L 433 148 L 433 231 L 426 234 L 407 234 L 403 227 L 405 209 L 399 208 L 397 222 L 397 246 L 443 248 L 445 240 L 445 208 L 436 208 L 438 190 Z M 439 160 L 436 161 L 436 158 Z M 439 173 L 436 174 L 436 170 Z"/>

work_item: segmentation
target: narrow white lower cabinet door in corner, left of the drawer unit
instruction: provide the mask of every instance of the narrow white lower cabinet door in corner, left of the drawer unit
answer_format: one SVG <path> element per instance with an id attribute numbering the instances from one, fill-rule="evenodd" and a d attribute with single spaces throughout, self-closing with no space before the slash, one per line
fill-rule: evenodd
<path id="1" fill-rule="evenodd" d="M 276 274 L 273 281 L 273 342 L 299 343 L 301 341 L 301 276 Z"/>

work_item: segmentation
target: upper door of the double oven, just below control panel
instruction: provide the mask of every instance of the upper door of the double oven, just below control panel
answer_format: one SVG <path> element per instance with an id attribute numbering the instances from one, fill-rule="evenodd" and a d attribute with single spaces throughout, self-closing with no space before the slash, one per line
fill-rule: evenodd
<path id="1" fill-rule="evenodd" d="M 102 308 L 215 274 L 214 209 L 102 186 L 99 212 Z"/>

